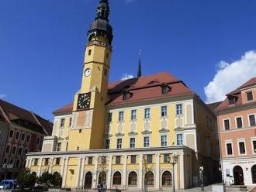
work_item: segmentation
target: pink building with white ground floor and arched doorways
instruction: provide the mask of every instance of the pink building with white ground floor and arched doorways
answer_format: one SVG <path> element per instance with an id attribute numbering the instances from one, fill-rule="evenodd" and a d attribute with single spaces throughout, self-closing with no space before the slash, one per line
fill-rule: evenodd
<path id="1" fill-rule="evenodd" d="M 216 108 L 223 180 L 256 185 L 256 77 Z"/>

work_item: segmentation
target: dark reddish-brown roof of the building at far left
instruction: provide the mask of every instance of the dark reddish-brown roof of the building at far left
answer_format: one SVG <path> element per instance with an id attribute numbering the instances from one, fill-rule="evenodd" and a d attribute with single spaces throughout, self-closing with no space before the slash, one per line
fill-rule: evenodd
<path id="1" fill-rule="evenodd" d="M 41 132 L 46 135 L 51 135 L 53 124 L 46 119 L 36 115 L 32 111 L 27 111 L 24 108 L 19 108 L 16 105 L 12 105 L 7 101 L 0 99 L 0 114 L 5 118 L 6 122 L 16 124 L 17 121 L 22 120 L 29 122 L 31 125 L 26 127 L 36 132 Z"/>

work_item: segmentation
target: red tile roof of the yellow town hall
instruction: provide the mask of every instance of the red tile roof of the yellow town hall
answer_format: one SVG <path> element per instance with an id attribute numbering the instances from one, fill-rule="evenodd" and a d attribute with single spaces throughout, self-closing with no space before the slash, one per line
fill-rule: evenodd
<path id="1" fill-rule="evenodd" d="M 168 84 L 171 91 L 161 94 L 161 85 Z M 127 91 L 131 97 L 124 100 L 123 92 Z M 180 95 L 194 94 L 182 81 L 171 74 L 152 74 L 145 77 L 116 81 L 109 84 L 109 101 L 107 105 L 122 105 L 151 99 L 171 98 Z M 65 105 L 54 111 L 54 114 L 73 110 L 73 104 Z"/>

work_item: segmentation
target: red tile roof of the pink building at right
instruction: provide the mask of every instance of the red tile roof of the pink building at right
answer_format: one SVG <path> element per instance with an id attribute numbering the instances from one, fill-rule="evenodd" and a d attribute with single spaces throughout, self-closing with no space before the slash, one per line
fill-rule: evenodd
<path id="1" fill-rule="evenodd" d="M 249 81 L 246 83 L 242 84 L 240 87 L 235 89 L 234 91 L 231 91 L 230 93 L 227 94 L 227 98 L 216 108 L 216 111 L 223 111 L 228 108 L 236 108 L 239 106 L 242 106 L 242 95 L 241 95 L 241 89 L 251 87 L 256 85 L 256 77 L 251 78 Z M 229 99 L 228 97 L 235 97 L 237 99 L 236 103 L 234 105 L 229 104 Z M 250 104 L 254 104 L 255 102 L 252 102 Z M 247 105 L 247 104 L 244 104 Z"/>

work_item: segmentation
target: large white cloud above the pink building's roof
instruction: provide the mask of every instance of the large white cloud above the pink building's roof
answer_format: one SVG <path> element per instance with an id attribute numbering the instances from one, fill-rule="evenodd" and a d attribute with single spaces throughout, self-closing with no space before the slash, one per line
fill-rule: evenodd
<path id="1" fill-rule="evenodd" d="M 244 53 L 240 60 L 233 63 L 220 61 L 213 81 L 204 88 L 206 103 L 223 101 L 225 95 L 256 77 L 256 51 Z"/>

